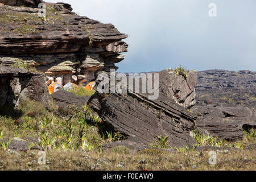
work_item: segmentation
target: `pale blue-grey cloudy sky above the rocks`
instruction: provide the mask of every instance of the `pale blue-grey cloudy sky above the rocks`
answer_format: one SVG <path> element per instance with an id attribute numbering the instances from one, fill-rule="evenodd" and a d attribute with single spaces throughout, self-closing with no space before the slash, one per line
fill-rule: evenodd
<path id="1" fill-rule="evenodd" d="M 46 0 L 130 35 L 118 72 L 256 71 L 255 0 Z M 216 16 L 210 3 L 216 5 Z"/>

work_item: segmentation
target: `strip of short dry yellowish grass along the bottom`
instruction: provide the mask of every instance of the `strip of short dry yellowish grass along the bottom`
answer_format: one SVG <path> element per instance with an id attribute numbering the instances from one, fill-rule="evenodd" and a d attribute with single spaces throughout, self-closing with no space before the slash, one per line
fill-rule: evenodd
<path id="1" fill-rule="evenodd" d="M 152 155 L 157 154 L 157 155 Z M 104 171 L 237 171 L 255 170 L 255 151 L 217 152 L 217 164 L 209 164 L 208 151 L 130 154 L 125 147 L 109 151 L 46 151 L 46 164 L 38 164 L 38 151 L 10 153 L 0 149 L 0 170 L 104 170 Z"/>

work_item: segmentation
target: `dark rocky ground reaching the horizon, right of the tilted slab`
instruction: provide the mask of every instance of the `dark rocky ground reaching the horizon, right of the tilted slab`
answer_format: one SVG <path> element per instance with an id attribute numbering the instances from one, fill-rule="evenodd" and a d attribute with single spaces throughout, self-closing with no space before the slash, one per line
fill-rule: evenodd
<path id="1" fill-rule="evenodd" d="M 255 127 L 256 72 L 209 70 L 197 73 L 196 126 L 229 140 L 243 138 L 242 129 Z M 205 131 L 206 130 L 206 131 Z"/>

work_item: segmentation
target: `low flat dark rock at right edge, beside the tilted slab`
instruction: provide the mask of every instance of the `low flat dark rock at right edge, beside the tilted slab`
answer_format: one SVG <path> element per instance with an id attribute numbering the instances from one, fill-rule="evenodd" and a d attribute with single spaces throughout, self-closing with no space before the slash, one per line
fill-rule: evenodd
<path id="1" fill-rule="evenodd" d="M 207 130 L 214 137 L 239 140 L 243 138 L 242 129 L 256 127 L 254 113 L 247 107 L 197 106 L 192 111 L 199 116 L 196 127 Z"/>

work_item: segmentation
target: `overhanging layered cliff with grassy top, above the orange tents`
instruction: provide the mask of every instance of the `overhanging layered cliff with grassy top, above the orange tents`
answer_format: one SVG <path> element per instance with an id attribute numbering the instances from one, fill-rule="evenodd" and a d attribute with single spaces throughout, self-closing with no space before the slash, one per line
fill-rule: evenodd
<path id="1" fill-rule="evenodd" d="M 41 1 L 0 1 L 0 61 L 2 65 L 23 60 L 61 84 L 95 79 L 94 73 L 122 61 L 127 44 L 113 24 L 103 24 L 72 12 L 67 3 L 46 3 L 46 16 L 39 16 Z M 22 7 L 15 7 L 20 6 Z"/>

